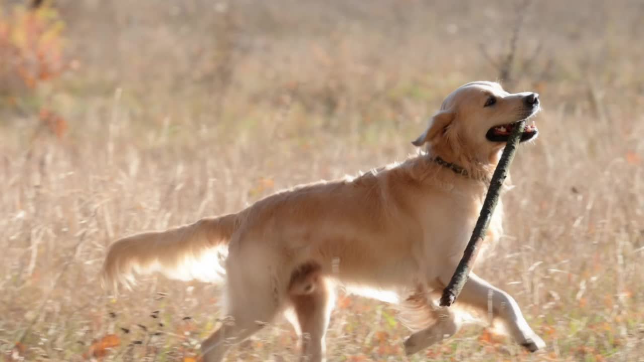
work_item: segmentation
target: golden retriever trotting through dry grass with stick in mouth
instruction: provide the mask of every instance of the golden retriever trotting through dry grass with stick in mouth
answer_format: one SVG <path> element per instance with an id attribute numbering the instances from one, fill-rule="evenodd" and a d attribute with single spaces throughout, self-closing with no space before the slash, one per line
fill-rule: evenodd
<path id="1" fill-rule="evenodd" d="M 205 362 L 285 315 L 301 336 L 303 361 L 325 361 L 334 291 L 397 303 L 412 335 L 407 354 L 453 336 L 463 316 L 491 317 L 530 351 L 545 346 L 516 301 L 474 273 L 450 308 L 439 307 L 477 221 L 500 153 L 516 121 L 540 110 L 538 94 L 495 82 L 453 91 L 399 164 L 316 182 L 263 198 L 239 213 L 166 231 L 135 234 L 109 247 L 108 285 L 133 274 L 225 281 L 223 322 L 202 343 Z M 529 122 L 522 141 L 537 134 Z M 502 204 L 486 243 L 502 234 Z M 468 319 L 470 320 L 470 319 Z"/>

